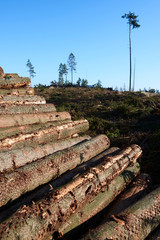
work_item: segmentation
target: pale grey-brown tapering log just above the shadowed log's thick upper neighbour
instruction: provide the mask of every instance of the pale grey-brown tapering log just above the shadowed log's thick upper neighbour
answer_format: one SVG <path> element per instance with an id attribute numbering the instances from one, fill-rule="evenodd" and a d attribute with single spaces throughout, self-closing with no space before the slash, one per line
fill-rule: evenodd
<path id="1" fill-rule="evenodd" d="M 58 140 L 55 143 L 38 145 L 36 147 L 24 147 L 21 149 L 0 152 L 0 172 L 12 171 L 13 169 L 24 166 L 27 163 L 34 162 L 37 159 L 89 139 L 90 137 L 87 136 L 70 138 Z"/>

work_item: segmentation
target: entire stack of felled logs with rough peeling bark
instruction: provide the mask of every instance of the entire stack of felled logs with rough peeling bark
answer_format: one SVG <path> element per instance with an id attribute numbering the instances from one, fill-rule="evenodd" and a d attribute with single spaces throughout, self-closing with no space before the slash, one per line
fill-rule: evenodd
<path id="1" fill-rule="evenodd" d="M 86 135 L 88 128 L 34 95 L 29 78 L 0 68 L 0 239 L 154 235 L 160 188 L 151 192 L 140 174 L 141 148 L 110 147 L 106 135 Z"/>

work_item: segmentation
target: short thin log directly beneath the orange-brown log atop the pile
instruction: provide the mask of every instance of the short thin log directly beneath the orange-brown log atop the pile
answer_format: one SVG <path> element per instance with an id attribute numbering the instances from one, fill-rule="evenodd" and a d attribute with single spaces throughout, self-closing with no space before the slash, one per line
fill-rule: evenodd
<path id="1" fill-rule="evenodd" d="M 23 87 L 17 89 L 0 89 L 1 95 L 34 95 L 34 88 L 32 87 Z"/>

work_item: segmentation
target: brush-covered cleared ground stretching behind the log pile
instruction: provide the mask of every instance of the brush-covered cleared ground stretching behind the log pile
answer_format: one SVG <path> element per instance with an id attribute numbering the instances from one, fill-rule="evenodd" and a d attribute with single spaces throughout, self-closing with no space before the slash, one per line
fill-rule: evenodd
<path id="1" fill-rule="evenodd" d="M 140 145 L 141 171 L 160 184 L 160 94 L 89 87 L 36 87 L 35 94 L 44 96 L 58 111 L 70 112 L 73 120 L 87 119 L 88 134 L 106 134 L 111 146 Z"/>

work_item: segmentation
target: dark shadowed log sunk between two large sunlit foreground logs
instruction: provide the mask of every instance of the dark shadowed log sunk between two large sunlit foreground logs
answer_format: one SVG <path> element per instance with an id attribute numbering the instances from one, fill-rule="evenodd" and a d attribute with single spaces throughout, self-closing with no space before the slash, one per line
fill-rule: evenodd
<path id="1" fill-rule="evenodd" d="M 58 189 L 62 187 L 64 184 L 71 182 L 76 177 L 83 174 L 87 171 L 90 167 L 94 167 L 97 164 L 101 163 L 106 156 L 114 156 L 119 152 L 119 148 L 112 147 L 109 148 L 102 153 L 98 154 L 97 156 L 93 157 L 91 160 L 81 164 L 80 166 L 68 171 L 67 173 L 63 174 L 61 177 L 50 181 L 49 183 L 41 186 L 38 189 L 30 192 L 29 194 L 23 195 L 19 198 L 18 201 L 15 201 L 10 206 L 4 206 L 3 210 L 0 210 L 0 223 L 10 217 L 13 213 L 15 213 L 20 207 L 23 205 L 29 205 L 33 201 L 37 202 L 44 198 L 46 194 L 50 193 L 53 189 Z"/>

